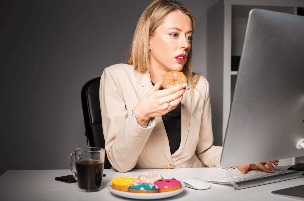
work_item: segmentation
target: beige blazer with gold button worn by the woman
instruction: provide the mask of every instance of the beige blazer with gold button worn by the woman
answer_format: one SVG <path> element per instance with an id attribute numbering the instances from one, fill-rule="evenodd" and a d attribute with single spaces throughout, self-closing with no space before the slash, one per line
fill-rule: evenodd
<path id="1" fill-rule="evenodd" d="M 106 68 L 100 81 L 100 107 L 105 150 L 119 172 L 132 168 L 221 167 L 222 147 L 212 146 L 209 84 L 200 77 L 191 107 L 187 87 L 181 100 L 181 145 L 171 155 L 161 117 L 152 118 L 153 127 L 141 128 L 132 110 L 151 88 L 150 74 L 134 71 L 132 65 L 116 64 Z M 201 96 L 201 95 L 202 96 Z"/>

